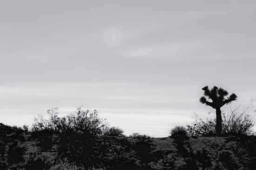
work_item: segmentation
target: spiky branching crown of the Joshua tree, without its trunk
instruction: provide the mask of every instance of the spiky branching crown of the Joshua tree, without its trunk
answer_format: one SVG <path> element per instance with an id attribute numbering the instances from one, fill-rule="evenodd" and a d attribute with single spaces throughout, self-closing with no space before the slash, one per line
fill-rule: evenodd
<path id="1" fill-rule="evenodd" d="M 213 108 L 220 108 L 224 106 L 225 104 L 229 104 L 232 101 L 235 101 L 237 99 L 236 94 L 231 94 L 227 99 L 225 97 L 229 94 L 226 90 L 223 88 L 218 88 L 214 86 L 212 89 L 209 89 L 208 86 L 205 86 L 202 88 L 204 91 L 204 96 L 201 96 L 200 102 L 202 104 L 205 104 L 206 106 L 210 106 Z M 208 101 L 207 98 L 211 99 L 212 102 Z"/>

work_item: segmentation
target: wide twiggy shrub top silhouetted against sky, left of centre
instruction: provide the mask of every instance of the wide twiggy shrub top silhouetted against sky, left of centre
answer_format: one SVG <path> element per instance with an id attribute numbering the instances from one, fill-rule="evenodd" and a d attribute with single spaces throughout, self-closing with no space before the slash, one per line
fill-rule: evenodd
<path id="1" fill-rule="evenodd" d="M 59 136 L 68 135 L 70 133 L 84 133 L 88 132 L 93 135 L 101 135 L 102 128 L 106 125 L 103 124 L 102 119 L 99 118 L 98 112 L 94 110 L 93 113 L 89 113 L 89 109 L 86 111 L 81 110 L 81 107 L 77 107 L 76 114 L 68 114 L 64 117 L 58 117 L 58 107 L 48 110 L 49 120 L 45 120 L 42 114 L 38 115 L 38 118 L 34 117 L 34 124 L 32 132 L 41 132 L 47 130 L 53 134 Z"/>

